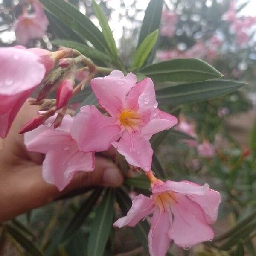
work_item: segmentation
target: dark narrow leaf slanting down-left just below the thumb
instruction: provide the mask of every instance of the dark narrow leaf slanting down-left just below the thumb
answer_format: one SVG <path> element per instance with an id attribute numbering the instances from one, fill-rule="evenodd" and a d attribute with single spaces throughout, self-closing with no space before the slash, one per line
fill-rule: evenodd
<path id="1" fill-rule="evenodd" d="M 76 212 L 76 214 L 73 216 L 67 227 L 65 228 L 62 236 L 61 241 L 65 241 L 70 236 L 73 235 L 73 233 L 78 230 L 81 225 L 86 220 L 89 213 L 92 211 L 93 207 L 95 206 L 97 200 L 99 199 L 99 196 L 101 195 L 102 188 L 97 188 L 93 190 L 90 193 L 90 196 L 81 204 L 80 209 Z"/>

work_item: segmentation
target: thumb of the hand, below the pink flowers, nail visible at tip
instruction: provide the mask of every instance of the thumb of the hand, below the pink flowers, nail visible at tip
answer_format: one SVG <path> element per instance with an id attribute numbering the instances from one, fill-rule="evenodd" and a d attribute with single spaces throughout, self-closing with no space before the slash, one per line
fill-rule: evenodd
<path id="1" fill-rule="evenodd" d="M 92 172 L 80 172 L 67 190 L 80 189 L 87 186 L 112 186 L 118 187 L 123 183 L 123 175 L 118 167 L 105 157 L 95 157 L 95 169 Z M 65 189 L 64 189 L 65 190 Z"/>

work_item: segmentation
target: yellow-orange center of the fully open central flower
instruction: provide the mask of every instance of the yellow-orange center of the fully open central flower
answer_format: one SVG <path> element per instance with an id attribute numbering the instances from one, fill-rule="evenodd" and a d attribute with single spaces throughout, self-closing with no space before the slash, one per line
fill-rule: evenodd
<path id="1" fill-rule="evenodd" d="M 132 130 L 135 130 L 137 126 L 142 122 L 142 118 L 135 111 L 124 110 L 120 113 L 119 121 L 125 129 L 131 128 Z"/>

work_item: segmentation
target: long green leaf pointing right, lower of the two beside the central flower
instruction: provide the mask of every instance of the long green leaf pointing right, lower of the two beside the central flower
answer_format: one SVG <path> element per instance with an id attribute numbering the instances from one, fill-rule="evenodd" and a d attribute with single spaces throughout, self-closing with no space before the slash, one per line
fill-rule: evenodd
<path id="1" fill-rule="evenodd" d="M 183 103 L 200 102 L 214 99 L 218 96 L 231 93 L 244 83 L 226 79 L 179 84 L 156 91 L 159 105 L 179 105 Z"/>

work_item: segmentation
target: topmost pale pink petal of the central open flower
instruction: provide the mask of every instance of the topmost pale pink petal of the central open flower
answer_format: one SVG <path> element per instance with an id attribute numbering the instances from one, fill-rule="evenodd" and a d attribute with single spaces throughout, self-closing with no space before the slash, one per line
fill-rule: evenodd
<path id="1" fill-rule="evenodd" d="M 124 76 L 121 71 L 114 70 L 108 76 L 92 79 L 90 84 L 99 105 L 111 116 L 116 116 L 125 105 L 126 96 L 136 81 L 134 74 Z"/>

